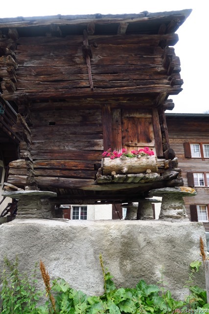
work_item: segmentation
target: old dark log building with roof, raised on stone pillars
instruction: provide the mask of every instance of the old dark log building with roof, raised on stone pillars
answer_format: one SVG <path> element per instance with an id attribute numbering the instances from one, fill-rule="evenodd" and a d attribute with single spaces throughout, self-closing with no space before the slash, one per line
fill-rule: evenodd
<path id="1" fill-rule="evenodd" d="M 7 182 L 56 192 L 57 204 L 137 202 L 183 185 L 164 111 L 182 90 L 173 46 L 190 12 L 0 19 L 1 97 L 22 134 Z M 103 173 L 103 151 L 143 147 L 155 170 Z"/>

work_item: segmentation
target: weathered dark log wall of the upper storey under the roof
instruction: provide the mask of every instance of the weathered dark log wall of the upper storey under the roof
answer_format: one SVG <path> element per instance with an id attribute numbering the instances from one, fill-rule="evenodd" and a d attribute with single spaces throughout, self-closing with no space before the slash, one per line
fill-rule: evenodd
<path id="1" fill-rule="evenodd" d="M 107 93 L 160 93 L 163 89 L 166 94 L 168 88 L 170 94 L 176 94 L 182 84 L 180 61 L 174 50 L 164 52 L 164 46 L 177 41 L 177 34 L 90 35 L 92 91 L 82 51 L 83 36 L 19 38 L 16 62 L 12 56 L 0 57 L 1 88 L 4 98 L 10 100 L 23 94 L 30 99 L 107 97 Z M 13 67 L 13 74 L 8 73 L 8 66 Z"/>

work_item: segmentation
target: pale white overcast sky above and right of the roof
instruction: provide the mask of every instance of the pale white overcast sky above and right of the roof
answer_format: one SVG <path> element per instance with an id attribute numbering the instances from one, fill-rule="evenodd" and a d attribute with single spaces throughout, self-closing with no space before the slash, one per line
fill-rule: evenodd
<path id="1" fill-rule="evenodd" d="M 0 18 L 57 14 L 122 14 L 142 11 L 163 12 L 192 9 L 186 22 L 177 30 L 174 46 L 181 60 L 183 91 L 173 99 L 172 111 L 204 113 L 209 110 L 208 1 L 207 0 L 10 0 L 2 1 Z"/>

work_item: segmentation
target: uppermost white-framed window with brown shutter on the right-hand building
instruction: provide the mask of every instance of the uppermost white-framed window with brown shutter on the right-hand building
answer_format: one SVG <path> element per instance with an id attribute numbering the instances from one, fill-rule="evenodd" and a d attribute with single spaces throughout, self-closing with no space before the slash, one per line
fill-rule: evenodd
<path id="1" fill-rule="evenodd" d="M 186 158 L 209 158 L 209 144 L 184 143 Z"/>

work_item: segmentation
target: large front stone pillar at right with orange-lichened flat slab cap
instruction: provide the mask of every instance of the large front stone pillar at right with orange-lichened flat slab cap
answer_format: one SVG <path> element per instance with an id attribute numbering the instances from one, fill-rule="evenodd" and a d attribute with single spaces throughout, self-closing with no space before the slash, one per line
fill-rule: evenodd
<path id="1" fill-rule="evenodd" d="M 185 202 L 183 197 L 195 196 L 197 193 L 191 187 L 163 187 L 153 189 L 149 196 L 161 196 L 162 205 L 159 219 L 175 221 L 175 219 L 189 220 L 186 215 Z"/>

